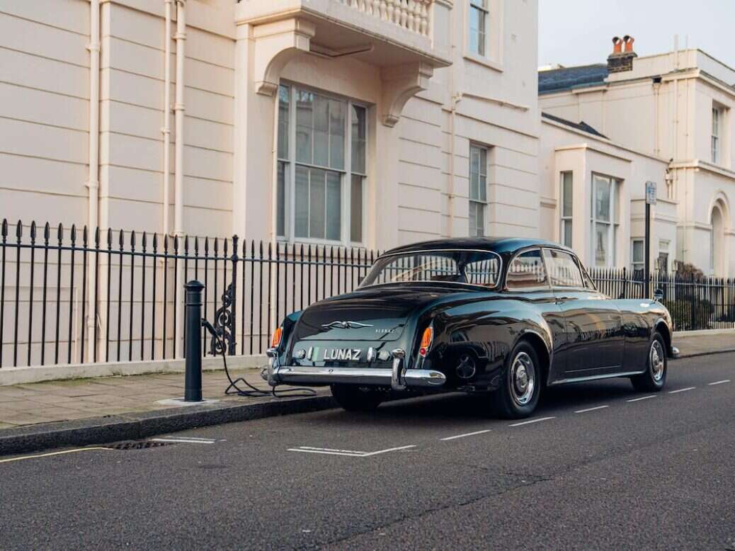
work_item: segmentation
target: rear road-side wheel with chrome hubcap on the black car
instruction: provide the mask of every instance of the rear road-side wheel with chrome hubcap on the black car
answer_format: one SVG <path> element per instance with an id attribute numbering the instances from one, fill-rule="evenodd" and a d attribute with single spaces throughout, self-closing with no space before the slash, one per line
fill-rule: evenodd
<path id="1" fill-rule="evenodd" d="M 520 419 L 534 413 L 542 387 L 542 369 L 534 347 L 519 342 L 508 356 L 501 387 L 494 392 L 498 414 L 506 419 Z"/>

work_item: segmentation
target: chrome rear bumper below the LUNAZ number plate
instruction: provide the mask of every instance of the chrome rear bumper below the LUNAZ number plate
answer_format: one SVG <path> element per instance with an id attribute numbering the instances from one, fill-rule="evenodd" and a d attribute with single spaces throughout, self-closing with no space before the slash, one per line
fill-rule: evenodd
<path id="1" fill-rule="evenodd" d="M 332 384 L 352 383 L 371 386 L 390 386 L 395 390 L 442 386 L 447 378 L 436 370 L 402 370 L 403 358 L 395 358 L 393 369 L 370 367 L 305 367 L 278 365 L 271 356 L 262 378 L 271 386 L 277 384 Z"/>

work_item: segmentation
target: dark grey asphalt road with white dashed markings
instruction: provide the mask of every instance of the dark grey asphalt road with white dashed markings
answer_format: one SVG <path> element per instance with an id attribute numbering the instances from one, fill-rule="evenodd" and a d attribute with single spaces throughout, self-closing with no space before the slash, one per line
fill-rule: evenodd
<path id="1" fill-rule="evenodd" d="M 657 395 L 553 389 L 526 424 L 481 410 L 403 400 L 0 462 L 0 549 L 735 550 L 735 354 L 672 362 Z"/>

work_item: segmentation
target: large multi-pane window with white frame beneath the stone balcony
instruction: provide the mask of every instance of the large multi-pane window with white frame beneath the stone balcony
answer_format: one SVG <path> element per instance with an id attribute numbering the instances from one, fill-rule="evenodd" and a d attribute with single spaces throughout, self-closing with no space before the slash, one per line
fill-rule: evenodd
<path id="1" fill-rule="evenodd" d="M 279 87 L 279 238 L 362 243 L 367 143 L 366 107 Z"/>

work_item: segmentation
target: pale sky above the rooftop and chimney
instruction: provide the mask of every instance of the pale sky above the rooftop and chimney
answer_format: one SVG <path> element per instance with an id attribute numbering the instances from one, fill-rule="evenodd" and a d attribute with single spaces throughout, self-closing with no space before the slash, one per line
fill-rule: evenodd
<path id="1" fill-rule="evenodd" d="M 677 34 L 735 68 L 735 0 L 539 0 L 539 65 L 606 62 L 624 35 L 639 56 L 660 54 Z"/>

